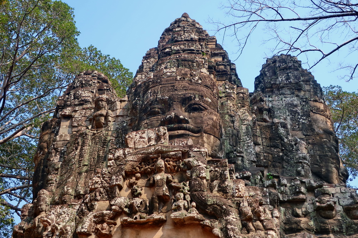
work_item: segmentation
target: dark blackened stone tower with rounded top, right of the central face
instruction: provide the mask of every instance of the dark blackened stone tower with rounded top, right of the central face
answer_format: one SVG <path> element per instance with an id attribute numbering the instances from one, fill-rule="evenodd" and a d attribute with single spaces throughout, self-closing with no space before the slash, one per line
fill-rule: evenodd
<path id="1" fill-rule="evenodd" d="M 277 170 L 280 169 L 284 170 L 280 175 L 301 176 L 302 173 L 305 174 L 304 177 L 327 183 L 346 181 L 348 174 L 340 165 L 338 140 L 321 87 L 310 72 L 301 68 L 301 62 L 296 57 L 281 55 L 268 59 L 255 79 L 251 102 L 257 121 L 267 125 L 275 120 L 287 132 L 290 137 L 287 140 L 294 138 L 306 143 L 308 161 L 297 161 L 301 166 L 286 169 L 282 167 L 280 161 L 287 164 L 290 150 L 287 155 L 282 156 L 267 153 L 274 157 L 269 161 L 264 159 L 269 167 L 273 167 L 270 173 L 280 174 Z M 265 154 L 264 152 L 264 156 Z M 271 166 L 272 162 L 275 166 Z"/>

